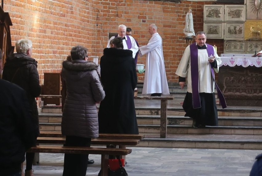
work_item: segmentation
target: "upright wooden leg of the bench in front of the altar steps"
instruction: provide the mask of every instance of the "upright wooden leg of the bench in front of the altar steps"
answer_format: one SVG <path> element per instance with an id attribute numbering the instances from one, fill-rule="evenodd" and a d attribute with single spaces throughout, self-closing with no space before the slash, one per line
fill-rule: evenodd
<path id="1" fill-rule="evenodd" d="M 160 138 L 166 138 L 167 134 L 167 100 L 161 100 Z"/>

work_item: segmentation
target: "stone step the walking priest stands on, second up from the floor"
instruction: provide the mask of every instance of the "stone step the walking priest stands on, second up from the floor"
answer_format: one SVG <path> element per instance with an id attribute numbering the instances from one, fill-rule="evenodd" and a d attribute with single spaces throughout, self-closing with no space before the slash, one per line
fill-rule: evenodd
<path id="1" fill-rule="evenodd" d="M 61 123 L 39 122 L 42 131 L 61 131 Z M 139 133 L 160 134 L 159 125 L 138 125 Z M 261 126 L 206 126 L 195 129 L 191 125 L 168 125 L 167 133 L 171 134 L 248 134 L 262 135 Z"/>

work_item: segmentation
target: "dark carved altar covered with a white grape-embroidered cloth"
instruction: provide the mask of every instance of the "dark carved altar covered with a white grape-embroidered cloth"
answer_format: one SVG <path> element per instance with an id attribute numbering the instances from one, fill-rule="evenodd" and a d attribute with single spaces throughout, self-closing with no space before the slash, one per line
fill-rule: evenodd
<path id="1" fill-rule="evenodd" d="M 228 106 L 262 106 L 262 58 L 220 57 L 218 86 Z"/>

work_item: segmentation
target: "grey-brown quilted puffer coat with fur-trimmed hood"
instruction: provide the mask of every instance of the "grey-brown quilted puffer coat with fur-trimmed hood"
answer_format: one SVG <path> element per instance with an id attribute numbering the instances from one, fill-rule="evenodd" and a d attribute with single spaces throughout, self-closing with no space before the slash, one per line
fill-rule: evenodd
<path id="1" fill-rule="evenodd" d="M 61 75 L 66 84 L 62 134 L 97 138 L 96 103 L 105 98 L 105 92 L 97 74 L 97 66 L 85 60 L 64 61 Z"/>

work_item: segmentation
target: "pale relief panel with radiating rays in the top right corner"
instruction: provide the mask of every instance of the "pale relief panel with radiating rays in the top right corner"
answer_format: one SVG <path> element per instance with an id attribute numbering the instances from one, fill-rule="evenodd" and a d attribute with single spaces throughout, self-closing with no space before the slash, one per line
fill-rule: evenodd
<path id="1" fill-rule="evenodd" d="M 261 0 L 246 0 L 247 2 L 247 19 L 262 19 L 262 2 Z"/>

